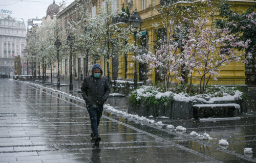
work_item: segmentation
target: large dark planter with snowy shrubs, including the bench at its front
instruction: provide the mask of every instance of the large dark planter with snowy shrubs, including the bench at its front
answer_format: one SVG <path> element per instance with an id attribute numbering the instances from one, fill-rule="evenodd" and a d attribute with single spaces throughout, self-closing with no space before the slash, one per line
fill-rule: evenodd
<path id="1" fill-rule="evenodd" d="M 247 112 L 246 97 L 236 87 L 209 86 L 206 94 L 194 93 L 190 96 L 184 92 L 179 93 L 179 86 L 172 90 L 161 92 L 153 86 L 142 86 L 131 93 L 128 112 L 140 116 L 180 119 L 198 118 L 196 107 L 205 108 L 199 118 L 236 117 Z"/>

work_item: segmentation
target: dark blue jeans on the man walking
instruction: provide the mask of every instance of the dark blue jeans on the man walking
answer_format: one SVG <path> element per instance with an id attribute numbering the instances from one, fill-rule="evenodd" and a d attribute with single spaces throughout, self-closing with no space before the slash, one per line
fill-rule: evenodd
<path id="1" fill-rule="evenodd" d="M 100 118 L 102 116 L 103 106 L 100 106 L 100 107 L 87 106 L 87 111 L 90 115 L 91 128 L 92 128 L 93 134 L 96 137 L 99 135 L 98 126 L 99 126 Z"/>

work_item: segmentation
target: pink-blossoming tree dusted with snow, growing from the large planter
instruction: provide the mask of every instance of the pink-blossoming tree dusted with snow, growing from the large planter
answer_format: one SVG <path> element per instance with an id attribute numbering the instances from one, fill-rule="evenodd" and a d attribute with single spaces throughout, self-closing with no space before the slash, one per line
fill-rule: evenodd
<path id="1" fill-rule="evenodd" d="M 231 62 L 246 63 L 245 56 L 251 58 L 250 54 L 246 55 L 245 52 L 239 53 L 236 50 L 237 48 L 247 48 L 250 40 L 240 41 L 239 37 L 229 33 L 228 28 L 218 29 L 215 25 L 217 11 L 215 6 L 217 4 L 202 1 L 197 5 L 202 7 L 198 9 L 201 13 L 198 12 L 197 17 L 190 14 L 193 8 L 190 10 L 184 8 L 183 15 L 186 17 L 183 16 L 179 19 L 173 16 L 169 21 L 163 23 L 168 29 L 167 41 L 159 40 L 161 45 L 155 50 L 155 53 L 145 53 L 136 58 L 139 62 L 147 63 L 153 68 L 152 71 L 159 68 L 163 70 L 161 76 L 165 81 L 166 91 L 174 79 L 177 79 L 186 89 L 184 82 L 188 77 L 190 78 L 189 90 L 185 91 L 191 91 L 192 80 L 196 79 L 200 81 L 199 92 L 204 93 L 209 80 L 218 79 L 222 66 Z M 177 7 L 173 5 L 173 8 Z M 179 9 L 182 11 L 182 8 L 179 7 Z M 165 14 L 164 12 L 162 14 Z M 211 19 L 211 23 L 209 23 L 209 19 Z M 183 24 L 183 26 L 179 24 Z M 182 34 L 178 33 L 180 31 Z"/>

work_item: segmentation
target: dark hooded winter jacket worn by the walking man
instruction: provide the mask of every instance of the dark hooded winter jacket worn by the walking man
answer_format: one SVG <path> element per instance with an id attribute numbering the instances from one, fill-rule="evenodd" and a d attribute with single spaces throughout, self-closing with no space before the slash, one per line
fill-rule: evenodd
<path id="1" fill-rule="evenodd" d="M 101 71 L 101 76 L 98 78 L 93 76 L 93 70 L 95 68 L 99 68 Z M 110 85 L 108 78 L 102 75 L 102 69 L 99 64 L 93 65 L 92 74 L 84 77 L 81 90 L 82 97 L 89 106 L 102 106 L 109 98 Z"/>

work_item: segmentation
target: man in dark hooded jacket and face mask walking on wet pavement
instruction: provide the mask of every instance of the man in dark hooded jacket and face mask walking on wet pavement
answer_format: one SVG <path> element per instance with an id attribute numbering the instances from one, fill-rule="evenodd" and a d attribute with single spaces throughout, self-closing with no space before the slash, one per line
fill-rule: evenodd
<path id="1" fill-rule="evenodd" d="M 84 77 L 81 90 L 91 119 L 92 141 L 95 141 L 95 145 L 99 145 L 101 139 L 98 126 L 103 111 L 103 104 L 110 94 L 108 78 L 102 75 L 102 69 L 99 64 L 93 65 L 92 75 Z"/>

